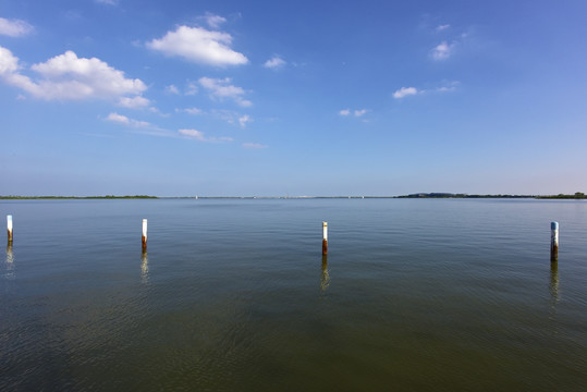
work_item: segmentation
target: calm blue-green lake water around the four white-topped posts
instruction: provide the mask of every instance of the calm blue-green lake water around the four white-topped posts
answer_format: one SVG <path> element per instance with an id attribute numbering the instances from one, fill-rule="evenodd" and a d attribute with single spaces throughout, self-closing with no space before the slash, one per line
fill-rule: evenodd
<path id="1" fill-rule="evenodd" d="M 0 201 L 9 213 L 0 391 L 587 385 L 584 201 Z"/>

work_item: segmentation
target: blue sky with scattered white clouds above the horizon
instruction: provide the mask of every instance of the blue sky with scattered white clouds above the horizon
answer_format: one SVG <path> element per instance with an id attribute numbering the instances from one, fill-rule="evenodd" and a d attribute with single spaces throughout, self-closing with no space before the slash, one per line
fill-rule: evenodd
<path id="1" fill-rule="evenodd" d="M 0 195 L 587 192 L 585 15 L 0 0 Z"/>

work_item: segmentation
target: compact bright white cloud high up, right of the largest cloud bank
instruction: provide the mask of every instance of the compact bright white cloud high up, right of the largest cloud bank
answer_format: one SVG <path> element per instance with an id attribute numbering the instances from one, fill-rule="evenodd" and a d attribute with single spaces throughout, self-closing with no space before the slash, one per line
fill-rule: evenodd
<path id="1" fill-rule="evenodd" d="M 248 59 L 230 48 L 232 36 L 201 27 L 180 26 L 162 38 L 147 42 L 147 47 L 167 56 L 179 56 L 199 64 L 224 66 L 246 64 Z"/>

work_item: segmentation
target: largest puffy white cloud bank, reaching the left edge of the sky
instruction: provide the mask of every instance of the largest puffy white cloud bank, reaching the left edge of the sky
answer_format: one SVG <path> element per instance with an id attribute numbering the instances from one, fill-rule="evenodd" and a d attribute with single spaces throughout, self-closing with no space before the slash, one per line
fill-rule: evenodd
<path id="1" fill-rule="evenodd" d="M 139 95 L 147 88 L 140 79 L 126 78 L 122 71 L 111 68 L 106 62 L 96 58 L 77 58 L 73 51 L 66 51 L 47 62 L 30 66 L 42 77 L 40 81 L 33 81 L 21 74 L 21 69 L 19 58 L 10 50 L 0 47 L 0 77 L 36 98 L 112 100 Z"/>

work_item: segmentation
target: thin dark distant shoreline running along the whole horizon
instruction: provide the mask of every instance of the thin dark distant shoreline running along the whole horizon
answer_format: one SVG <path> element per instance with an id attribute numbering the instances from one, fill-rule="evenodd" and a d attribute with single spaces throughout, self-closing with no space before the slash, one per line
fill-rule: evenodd
<path id="1" fill-rule="evenodd" d="M 62 199 L 382 199 L 382 198 L 531 198 L 531 199 L 586 199 L 587 196 L 577 192 L 574 195 L 467 195 L 451 193 L 418 193 L 402 196 L 179 196 L 159 197 L 147 195 L 135 196 L 0 196 L 0 200 L 62 200 Z"/>

